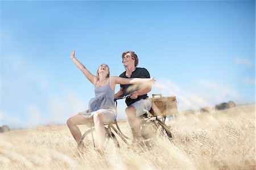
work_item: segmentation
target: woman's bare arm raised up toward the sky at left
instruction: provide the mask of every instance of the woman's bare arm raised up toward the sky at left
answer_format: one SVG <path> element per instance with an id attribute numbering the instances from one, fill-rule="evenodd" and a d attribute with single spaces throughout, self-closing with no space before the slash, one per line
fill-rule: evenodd
<path id="1" fill-rule="evenodd" d="M 71 52 L 70 58 L 76 64 L 76 66 L 82 71 L 82 73 L 84 73 L 85 77 L 90 82 L 92 82 L 93 85 L 95 85 L 96 82 L 97 82 L 97 77 L 94 76 L 92 73 L 90 73 L 88 71 L 88 69 L 86 69 L 85 66 L 82 63 L 80 63 L 79 60 L 76 59 L 76 57 L 75 57 L 75 50 Z"/>

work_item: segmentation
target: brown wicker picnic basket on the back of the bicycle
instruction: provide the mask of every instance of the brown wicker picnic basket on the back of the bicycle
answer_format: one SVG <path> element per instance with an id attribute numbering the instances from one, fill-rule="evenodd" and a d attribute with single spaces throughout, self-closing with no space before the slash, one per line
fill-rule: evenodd
<path id="1" fill-rule="evenodd" d="M 152 94 L 152 98 L 149 99 L 152 102 L 152 108 L 150 112 L 154 116 L 178 113 L 175 96 L 162 97 L 162 94 Z"/>

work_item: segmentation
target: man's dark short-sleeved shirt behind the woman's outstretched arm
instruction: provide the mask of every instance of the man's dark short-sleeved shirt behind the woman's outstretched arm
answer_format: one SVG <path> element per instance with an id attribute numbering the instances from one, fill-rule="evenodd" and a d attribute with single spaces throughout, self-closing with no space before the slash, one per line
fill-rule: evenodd
<path id="1" fill-rule="evenodd" d="M 120 74 L 119 77 L 123 77 L 123 78 L 129 78 L 125 76 L 126 71 L 123 72 L 122 74 Z M 131 77 L 130 78 L 150 78 L 150 73 L 148 73 L 146 68 L 136 68 L 135 71 L 133 73 L 131 73 Z M 120 85 L 121 88 L 123 88 L 123 95 L 127 95 L 130 94 L 138 89 L 132 89 L 129 90 L 127 89 L 129 86 L 133 86 L 131 84 L 127 84 L 127 85 Z M 132 103 L 139 101 L 140 99 L 146 99 L 148 96 L 147 94 L 144 94 L 142 96 L 138 96 L 136 99 L 131 99 L 131 98 L 126 98 L 125 102 L 127 106 L 130 106 Z"/>

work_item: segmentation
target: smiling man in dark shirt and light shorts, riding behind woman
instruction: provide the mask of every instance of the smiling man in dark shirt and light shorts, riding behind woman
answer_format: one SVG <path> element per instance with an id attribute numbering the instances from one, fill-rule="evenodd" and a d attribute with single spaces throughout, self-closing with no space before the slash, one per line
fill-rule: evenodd
<path id="1" fill-rule="evenodd" d="M 133 51 L 125 51 L 122 54 L 122 63 L 125 66 L 126 71 L 119 77 L 123 78 L 150 78 L 145 68 L 137 68 L 138 57 Z M 121 85 L 119 92 L 115 93 L 115 98 L 126 96 L 130 94 L 129 98 L 126 98 L 126 115 L 128 118 L 133 138 L 135 140 L 142 139 L 141 136 L 141 122 L 139 116 L 146 113 L 144 110 L 150 110 L 151 102 L 147 100 L 147 93 L 151 91 L 151 85 Z"/>

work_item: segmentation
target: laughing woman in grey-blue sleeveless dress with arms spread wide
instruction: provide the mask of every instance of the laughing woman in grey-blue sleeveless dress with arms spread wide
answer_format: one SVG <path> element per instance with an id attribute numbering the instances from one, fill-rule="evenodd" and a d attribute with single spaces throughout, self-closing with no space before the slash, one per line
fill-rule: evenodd
<path id="1" fill-rule="evenodd" d="M 101 150 L 105 143 L 104 123 L 112 122 L 117 118 L 117 112 L 114 105 L 115 84 L 142 84 L 154 83 L 152 78 L 121 78 L 117 76 L 109 76 L 109 67 L 101 64 L 97 70 L 97 76 L 90 73 L 84 65 L 75 57 L 75 51 L 71 53 L 71 60 L 84 73 L 85 77 L 94 85 L 95 97 L 90 99 L 89 109 L 83 113 L 79 113 L 71 117 L 67 121 L 67 125 L 71 134 L 79 143 L 81 131 L 77 125 L 84 125 L 94 122 L 97 137 L 97 148 Z"/>

